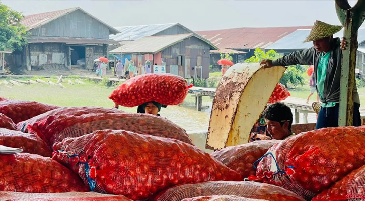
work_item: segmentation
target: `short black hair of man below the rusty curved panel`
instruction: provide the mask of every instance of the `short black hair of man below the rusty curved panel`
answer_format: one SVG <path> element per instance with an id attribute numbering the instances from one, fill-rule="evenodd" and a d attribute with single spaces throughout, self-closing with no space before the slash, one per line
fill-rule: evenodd
<path id="1" fill-rule="evenodd" d="M 262 113 L 265 119 L 279 122 L 282 126 L 285 122 L 289 122 L 288 129 L 291 130 L 291 124 L 293 124 L 293 113 L 291 109 L 283 103 L 274 103 L 266 108 Z"/>

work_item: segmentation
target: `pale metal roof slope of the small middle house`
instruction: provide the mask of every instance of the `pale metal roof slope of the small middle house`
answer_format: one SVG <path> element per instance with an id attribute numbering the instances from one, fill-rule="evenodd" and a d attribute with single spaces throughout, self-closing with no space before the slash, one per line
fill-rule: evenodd
<path id="1" fill-rule="evenodd" d="M 112 54 L 155 54 L 163 49 L 170 47 L 176 43 L 183 41 L 186 38 L 190 38 L 194 34 L 178 34 L 178 35 L 166 35 L 166 36 L 149 36 L 139 40 L 130 42 L 117 49 L 110 51 Z"/>

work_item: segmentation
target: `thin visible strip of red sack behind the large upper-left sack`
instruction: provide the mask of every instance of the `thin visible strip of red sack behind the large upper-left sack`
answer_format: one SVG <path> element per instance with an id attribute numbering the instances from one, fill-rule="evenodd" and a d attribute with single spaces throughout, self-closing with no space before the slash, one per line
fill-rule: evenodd
<path id="1" fill-rule="evenodd" d="M 28 127 L 32 127 L 33 124 L 37 122 L 41 122 L 42 120 L 46 119 L 50 116 L 57 116 L 57 115 L 74 115 L 80 116 L 83 114 L 89 113 L 120 113 L 122 111 L 115 109 L 115 108 L 101 108 L 101 107 L 62 107 L 57 108 L 41 115 L 35 116 L 30 118 L 29 120 L 19 122 L 17 124 L 17 129 L 22 132 L 28 132 Z"/>

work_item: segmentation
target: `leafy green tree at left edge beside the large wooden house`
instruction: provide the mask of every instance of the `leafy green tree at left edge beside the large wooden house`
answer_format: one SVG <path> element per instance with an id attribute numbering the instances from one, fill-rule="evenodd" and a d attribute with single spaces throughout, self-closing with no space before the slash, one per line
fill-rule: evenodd
<path id="1" fill-rule="evenodd" d="M 24 16 L 0 2 L 0 50 L 21 50 L 27 44 Z"/>

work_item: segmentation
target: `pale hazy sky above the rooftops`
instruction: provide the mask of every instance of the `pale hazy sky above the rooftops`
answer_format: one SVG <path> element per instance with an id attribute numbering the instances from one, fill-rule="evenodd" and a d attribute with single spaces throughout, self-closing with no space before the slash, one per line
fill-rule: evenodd
<path id="1" fill-rule="evenodd" d="M 24 15 L 80 7 L 117 26 L 180 23 L 194 31 L 238 27 L 340 25 L 334 0 L 0 0 Z M 354 5 L 356 1 L 349 1 Z M 362 25 L 365 27 L 365 24 Z"/>

